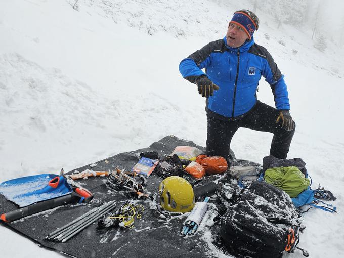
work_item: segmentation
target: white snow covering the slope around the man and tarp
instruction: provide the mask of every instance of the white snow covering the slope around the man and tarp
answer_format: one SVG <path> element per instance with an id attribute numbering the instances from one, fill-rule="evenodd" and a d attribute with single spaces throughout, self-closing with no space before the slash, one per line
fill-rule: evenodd
<path id="1" fill-rule="evenodd" d="M 179 62 L 222 38 L 235 1 L 0 1 L 0 181 L 58 173 L 149 146 L 166 135 L 205 145 L 204 99 Z M 255 41 L 285 74 L 296 133 L 289 158 L 338 198 L 338 214 L 312 210 L 300 247 L 311 257 L 340 257 L 344 182 L 341 121 L 343 52 L 313 48 L 311 32 L 261 20 Z M 262 80 L 258 98 L 273 105 Z M 240 129 L 239 158 L 262 162 L 272 135 Z M 0 227 L 4 257 L 55 255 Z M 4 248 L 6 246 L 6 248 Z M 25 246 L 25 248 L 18 248 Z M 34 255 L 33 255 L 34 253 Z M 288 255 L 285 255 L 288 256 Z M 293 257 L 301 257 L 297 252 Z"/>

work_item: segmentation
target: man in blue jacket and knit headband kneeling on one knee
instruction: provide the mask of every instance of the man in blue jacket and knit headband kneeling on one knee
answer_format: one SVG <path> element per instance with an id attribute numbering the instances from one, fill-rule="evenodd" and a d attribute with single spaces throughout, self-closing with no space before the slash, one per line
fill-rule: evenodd
<path id="1" fill-rule="evenodd" d="M 229 160 L 233 135 L 244 127 L 273 133 L 270 155 L 287 157 L 295 122 L 284 76 L 270 53 L 254 43 L 258 27 L 254 13 L 236 11 L 223 39 L 210 42 L 179 65 L 183 77 L 197 84 L 198 93 L 206 98 L 208 156 Z M 257 101 L 262 75 L 271 86 L 276 108 Z"/>

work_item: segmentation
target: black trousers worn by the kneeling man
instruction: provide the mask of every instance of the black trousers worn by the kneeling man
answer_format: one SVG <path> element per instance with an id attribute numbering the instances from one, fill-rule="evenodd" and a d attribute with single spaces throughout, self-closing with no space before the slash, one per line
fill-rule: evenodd
<path id="1" fill-rule="evenodd" d="M 276 108 L 257 101 L 256 105 L 247 114 L 234 121 L 225 121 L 208 116 L 207 155 L 222 156 L 229 160 L 229 148 L 232 138 L 238 128 L 243 127 L 273 133 L 270 155 L 285 159 L 295 132 L 295 126 L 294 130 L 286 131 L 282 127 L 282 121 L 275 123 L 278 115 L 279 111 Z"/>

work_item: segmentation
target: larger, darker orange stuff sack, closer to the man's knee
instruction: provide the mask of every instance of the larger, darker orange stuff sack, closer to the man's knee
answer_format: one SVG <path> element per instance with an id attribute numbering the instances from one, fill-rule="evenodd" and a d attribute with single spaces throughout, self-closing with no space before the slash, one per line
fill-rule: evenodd
<path id="1" fill-rule="evenodd" d="M 228 168 L 227 161 L 223 157 L 199 155 L 196 162 L 204 167 L 207 175 L 221 174 Z"/>

